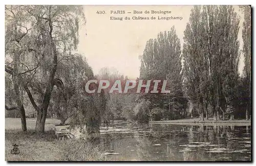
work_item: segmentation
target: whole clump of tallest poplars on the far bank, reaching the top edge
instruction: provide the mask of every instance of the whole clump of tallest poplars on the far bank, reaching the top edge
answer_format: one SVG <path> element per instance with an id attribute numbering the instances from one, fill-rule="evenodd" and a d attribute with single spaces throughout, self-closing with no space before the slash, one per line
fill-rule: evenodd
<path id="1" fill-rule="evenodd" d="M 210 100 L 215 119 L 222 112 L 224 120 L 226 106 L 234 101 L 239 21 L 232 6 L 195 6 L 191 10 L 184 32 L 184 75 L 186 93 L 199 105 L 201 117 Z"/>

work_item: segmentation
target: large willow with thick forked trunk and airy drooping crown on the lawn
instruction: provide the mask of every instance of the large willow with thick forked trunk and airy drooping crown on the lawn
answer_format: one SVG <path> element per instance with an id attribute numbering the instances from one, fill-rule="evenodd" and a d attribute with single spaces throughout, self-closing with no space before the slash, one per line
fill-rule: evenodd
<path id="1" fill-rule="evenodd" d="M 14 9 L 19 15 L 15 16 Z M 13 79 L 13 83 L 15 85 L 21 82 L 20 85 L 24 87 L 37 113 L 35 130 L 44 132 L 53 87 L 62 86 L 61 80 L 55 78 L 57 66 L 61 59 L 72 56 L 72 51 L 77 48 L 79 25 L 85 23 L 83 9 L 81 6 L 47 5 L 11 6 L 8 11 L 11 22 L 8 29 L 17 29 L 23 33 L 19 36 L 10 33 L 8 37 L 15 45 L 19 45 L 15 53 L 17 56 L 13 57 L 13 70 L 10 66 L 6 68 L 10 69 L 14 76 L 17 75 L 16 71 L 26 74 L 19 74 L 19 80 L 22 81 Z M 17 37 L 18 41 L 13 40 Z M 17 50 L 21 50 L 22 54 Z M 24 60 L 22 63 L 20 58 Z M 20 71 L 21 65 L 24 65 L 27 71 Z M 41 89 L 40 95 L 34 95 L 38 85 Z"/>

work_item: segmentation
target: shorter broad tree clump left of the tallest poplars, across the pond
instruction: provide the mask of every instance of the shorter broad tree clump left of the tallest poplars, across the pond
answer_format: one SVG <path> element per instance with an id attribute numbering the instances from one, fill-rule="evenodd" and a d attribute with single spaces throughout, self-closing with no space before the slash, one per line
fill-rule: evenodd
<path id="1" fill-rule="evenodd" d="M 170 94 L 144 96 L 153 103 L 151 109 L 167 109 L 164 114 L 167 119 L 184 110 L 186 100 L 182 87 L 181 47 L 174 26 L 168 32 L 160 32 L 157 39 L 147 41 L 141 56 L 140 79 L 168 80 Z"/>

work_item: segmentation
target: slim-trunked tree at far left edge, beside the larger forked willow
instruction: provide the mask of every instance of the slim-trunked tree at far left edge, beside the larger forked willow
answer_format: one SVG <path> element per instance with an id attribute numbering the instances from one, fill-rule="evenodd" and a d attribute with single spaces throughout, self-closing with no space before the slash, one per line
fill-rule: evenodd
<path id="1" fill-rule="evenodd" d="M 6 109 L 18 110 L 23 131 L 27 130 L 27 125 L 22 95 L 20 93 L 23 91 L 23 78 L 35 70 L 35 68 L 29 68 L 24 63 L 27 54 L 25 47 L 27 47 L 29 32 L 31 32 L 31 28 L 27 27 L 28 19 L 26 18 L 27 14 L 23 12 L 23 8 L 19 6 L 5 7 L 5 71 L 11 74 L 14 92 L 12 97 L 15 101 L 15 106 L 10 108 L 6 105 Z"/>

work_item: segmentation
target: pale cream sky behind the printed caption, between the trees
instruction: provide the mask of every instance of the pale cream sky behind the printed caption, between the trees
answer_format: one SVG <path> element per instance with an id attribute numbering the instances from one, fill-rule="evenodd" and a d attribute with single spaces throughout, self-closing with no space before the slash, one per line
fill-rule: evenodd
<path id="1" fill-rule="evenodd" d="M 140 60 L 146 41 L 157 38 L 158 33 L 169 31 L 174 25 L 183 45 L 183 32 L 193 6 L 84 6 L 86 26 L 79 32 L 78 52 L 86 56 L 94 74 L 103 67 L 114 67 L 129 79 L 139 77 Z M 242 49 L 243 15 L 238 6 L 235 11 L 240 15 L 239 40 Z M 125 14 L 111 14 L 111 11 L 125 11 Z M 145 11 L 171 11 L 170 14 L 144 14 Z M 105 11 L 105 14 L 97 14 Z M 143 14 L 134 14 L 142 11 Z M 131 12 L 131 13 L 127 13 Z M 124 20 L 125 16 L 131 20 Z M 156 20 L 132 20 L 133 16 L 156 17 Z M 182 17 L 182 20 L 157 20 L 160 17 Z M 123 20 L 110 20 L 110 17 L 123 17 Z M 239 71 L 243 69 L 241 55 Z"/>

